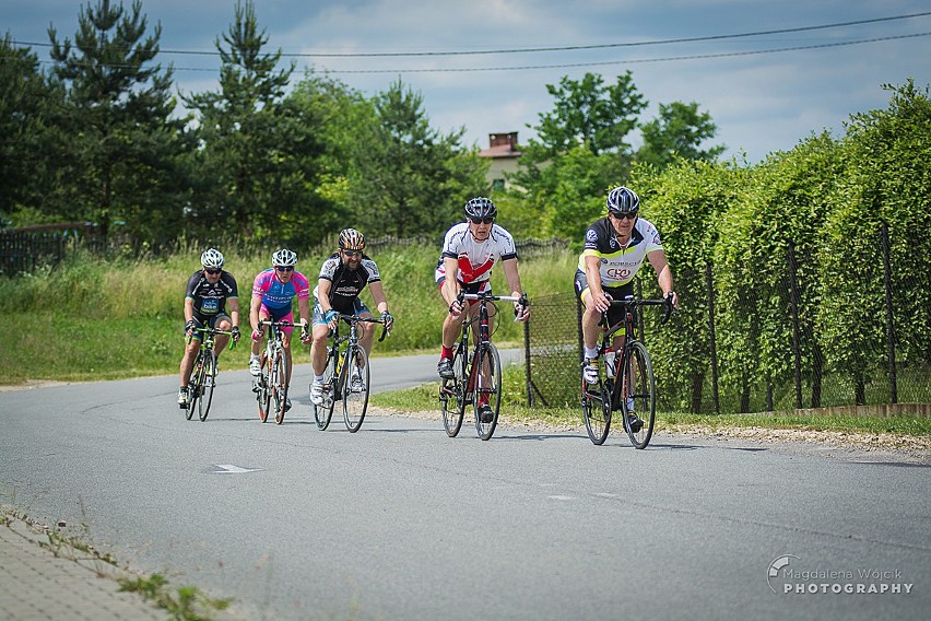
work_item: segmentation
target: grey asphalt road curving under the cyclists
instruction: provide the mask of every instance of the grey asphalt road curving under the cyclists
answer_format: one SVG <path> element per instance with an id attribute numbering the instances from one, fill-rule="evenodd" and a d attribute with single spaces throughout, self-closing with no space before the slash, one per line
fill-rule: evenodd
<path id="1" fill-rule="evenodd" d="M 375 359 L 373 382 L 435 362 Z M 320 432 L 307 374 L 280 426 L 245 371 L 221 372 L 204 423 L 175 377 L 0 392 L 0 496 L 249 619 L 928 619 L 927 466 L 662 434 L 481 442 L 468 421 L 449 438 L 438 414 Z"/>

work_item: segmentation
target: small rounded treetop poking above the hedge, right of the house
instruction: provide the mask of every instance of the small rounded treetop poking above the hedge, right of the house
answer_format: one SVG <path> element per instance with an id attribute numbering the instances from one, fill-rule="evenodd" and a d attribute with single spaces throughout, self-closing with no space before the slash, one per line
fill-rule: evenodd
<path id="1" fill-rule="evenodd" d="M 695 102 L 660 104 L 659 117 L 640 125 L 644 145 L 637 151 L 637 162 L 659 168 L 668 166 L 675 157 L 714 162 L 724 152 L 724 147 L 702 149 L 702 143 L 714 138 L 717 130 L 711 115 L 699 113 Z"/>

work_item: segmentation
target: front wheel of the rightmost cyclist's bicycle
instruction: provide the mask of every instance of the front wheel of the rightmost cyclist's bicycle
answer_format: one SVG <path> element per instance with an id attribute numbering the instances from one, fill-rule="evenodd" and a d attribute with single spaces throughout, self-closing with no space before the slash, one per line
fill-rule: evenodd
<path id="1" fill-rule="evenodd" d="M 653 367 L 644 343 L 634 341 L 628 345 L 627 356 L 624 360 L 624 374 L 621 378 L 621 412 L 624 418 L 624 430 L 634 448 L 646 448 L 653 435 L 657 395 Z M 636 414 L 636 418 L 633 414 Z"/>

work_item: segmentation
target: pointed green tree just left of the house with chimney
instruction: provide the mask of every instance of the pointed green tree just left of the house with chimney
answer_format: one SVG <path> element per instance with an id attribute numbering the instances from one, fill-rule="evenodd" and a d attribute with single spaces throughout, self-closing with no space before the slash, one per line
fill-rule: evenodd
<path id="1" fill-rule="evenodd" d="M 431 128 L 423 96 L 400 79 L 373 103 L 375 125 L 358 128 L 351 147 L 351 210 L 373 233 L 441 233 L 469 198 L 487 192 L 487 163 L 460 147 L 464 128 Z"/>

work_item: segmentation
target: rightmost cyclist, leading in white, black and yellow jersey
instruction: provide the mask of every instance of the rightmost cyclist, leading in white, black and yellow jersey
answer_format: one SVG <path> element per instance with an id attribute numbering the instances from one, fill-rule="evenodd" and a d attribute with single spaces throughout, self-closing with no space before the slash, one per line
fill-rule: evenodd
<path id="1" fill-rule="evenodd" d="M 672 271 L 665 260 L 659 232 L 639 218 L 640 198 L 624 186 L 608 192 L 608 214 L 594 222 L 585 233 L 585 246 L 576 270 L 576 293 L 585 304 L 582 340 L 586 382 L 598 382 L 598 335 L 602 313 L 609 312 L 611 325 L 622 319 L 623 308 L 611 308 L 611 300 L 634 294 L 634 277 L 645 259 L 657 272 L 663 297 L 672 296 L 673 307 L 679 297 L 672 291 Z M 624 345 L 624 333 L 614 338 L 614 349 Z M 637 426 L 636 422 L 632 423 Z"/>

